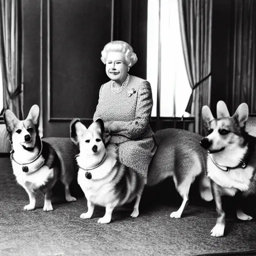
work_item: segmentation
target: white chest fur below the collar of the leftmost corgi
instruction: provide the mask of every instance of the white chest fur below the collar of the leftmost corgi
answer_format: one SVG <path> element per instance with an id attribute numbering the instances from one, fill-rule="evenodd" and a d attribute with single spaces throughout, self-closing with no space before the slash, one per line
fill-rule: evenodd
<path id="1" fill-rule="evenodd" d="M 53 178 L 53 168 L 49 168 L 47 165 L 43 165 L 34 172 L 23 172 L 16 162 L 11 161 L 13 173 L 16 176 L 17 182 L 25 187 L 29 187 L 32 190 L 36 190 L 41 186 L 44 186 L 50 179 Z"/>

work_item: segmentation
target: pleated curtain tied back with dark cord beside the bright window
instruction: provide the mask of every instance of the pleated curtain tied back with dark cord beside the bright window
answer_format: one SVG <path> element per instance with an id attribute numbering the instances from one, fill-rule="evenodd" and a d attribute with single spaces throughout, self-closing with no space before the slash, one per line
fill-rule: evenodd
<path id="1" fill-rule="evenodd" d="M 212 0 L 178 0 L 179 23 L 189 84 L 186 111 L 195 118 L 195 132 L 203 134 L 201 107 L 210 103 Z"/>

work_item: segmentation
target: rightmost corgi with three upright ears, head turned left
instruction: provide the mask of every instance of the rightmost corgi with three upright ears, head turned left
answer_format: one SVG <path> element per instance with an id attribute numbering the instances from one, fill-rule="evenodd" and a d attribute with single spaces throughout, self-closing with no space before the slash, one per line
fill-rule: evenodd
<path id="1" fill-rule="evenodd" d="M 218 101 L 216 119 L 208 106 L 203 106 L 201 111 L 208 135 L 200 144 L 208 150 L 207 173 L 217 211 L 217 221 L 210 232 L 212 236 L 223 236 L 225 212 L 221 197 L 255 193 L 256 138 L 245 131 L 248 118 L 246 103 L 241 103 L 230 116 L 226 104 Z M 236 216 L 241 220 L 252 219 L 241 210 L 240 205 L 237 205 Z"/>

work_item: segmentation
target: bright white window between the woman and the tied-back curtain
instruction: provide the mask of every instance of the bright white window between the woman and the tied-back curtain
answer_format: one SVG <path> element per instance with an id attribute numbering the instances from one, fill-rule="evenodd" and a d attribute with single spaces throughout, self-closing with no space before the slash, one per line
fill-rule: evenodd
<path id="1" fill-rule="evenodd" d="M 153 94 L 152 116 L 156 116 L 158 77 L 160 116 L 189 116 L 184 110 L 191 87 L 182 51 L 177 0 L 148 0 L 147 19 L 147 80 Z"/>

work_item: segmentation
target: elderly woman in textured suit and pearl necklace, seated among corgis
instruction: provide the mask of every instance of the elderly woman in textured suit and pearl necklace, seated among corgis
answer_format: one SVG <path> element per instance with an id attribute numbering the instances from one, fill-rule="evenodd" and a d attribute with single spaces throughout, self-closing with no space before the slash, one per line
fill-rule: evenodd
<path id="1" fill-rule="evenodd" d="M 137 56 L 124 41 L 108 42 L 101 60 L 110 80 L 100 87 L 93 120 L 104 121 L 107 143 L 117 144 L 120 161 L 146 177 L 156 150 L 149 125 L 153 104 L 150 83 L 128 74 Z"/>

